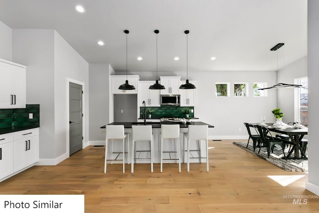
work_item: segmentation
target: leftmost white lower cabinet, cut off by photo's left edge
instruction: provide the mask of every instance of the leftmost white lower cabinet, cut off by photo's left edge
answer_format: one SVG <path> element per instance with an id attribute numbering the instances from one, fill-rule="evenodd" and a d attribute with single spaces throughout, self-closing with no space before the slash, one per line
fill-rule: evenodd
<path id="1" fill-rule="evenodd" d="M 0 135 L 0 180 L 13 173 L 13 134 Z"/>

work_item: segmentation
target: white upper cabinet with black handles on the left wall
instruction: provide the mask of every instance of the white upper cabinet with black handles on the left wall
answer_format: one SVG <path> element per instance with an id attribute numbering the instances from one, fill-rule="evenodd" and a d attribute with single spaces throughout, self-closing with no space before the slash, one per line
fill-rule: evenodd
<path id="1" fill-rule="evenodd" d="M 25 108 L 26 67 L 0 59 L 0 108 Z"/>

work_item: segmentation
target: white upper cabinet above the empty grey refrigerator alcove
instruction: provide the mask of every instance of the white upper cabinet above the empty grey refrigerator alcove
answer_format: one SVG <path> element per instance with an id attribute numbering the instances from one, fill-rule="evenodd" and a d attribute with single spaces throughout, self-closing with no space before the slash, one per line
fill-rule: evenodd
<path id="1" fill-rule="evenodd" d="M 119 86 L 124 84 L 126 79 L 129 84 L 133 85 L 135 89 L 133 90 L 121 90 Z M 140 77 L 138 75 L 111 75 L 111 90 L 112 94 L 137 94 L 138 93 L 138 82 Z"/>

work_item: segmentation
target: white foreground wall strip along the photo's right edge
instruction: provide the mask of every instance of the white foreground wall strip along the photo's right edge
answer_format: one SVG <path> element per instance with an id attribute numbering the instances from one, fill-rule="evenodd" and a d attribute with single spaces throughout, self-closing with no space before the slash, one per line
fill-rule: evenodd
<path id="1" fill-rule="evenodd" d="M 306 189 L 319 195 L 319 1 L 308 0 L 308 182 Z"/>

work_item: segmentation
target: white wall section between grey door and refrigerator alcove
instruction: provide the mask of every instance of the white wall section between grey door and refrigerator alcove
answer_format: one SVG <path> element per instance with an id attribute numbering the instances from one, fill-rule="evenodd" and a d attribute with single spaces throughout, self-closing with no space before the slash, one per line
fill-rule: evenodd
<path id="1" fill-rule="evenodd" d="M 109 64 L 89 65 L 90 88 L 90 144 L 105 141 L 105 129 L 100 127 L 109 123 Z"/>

